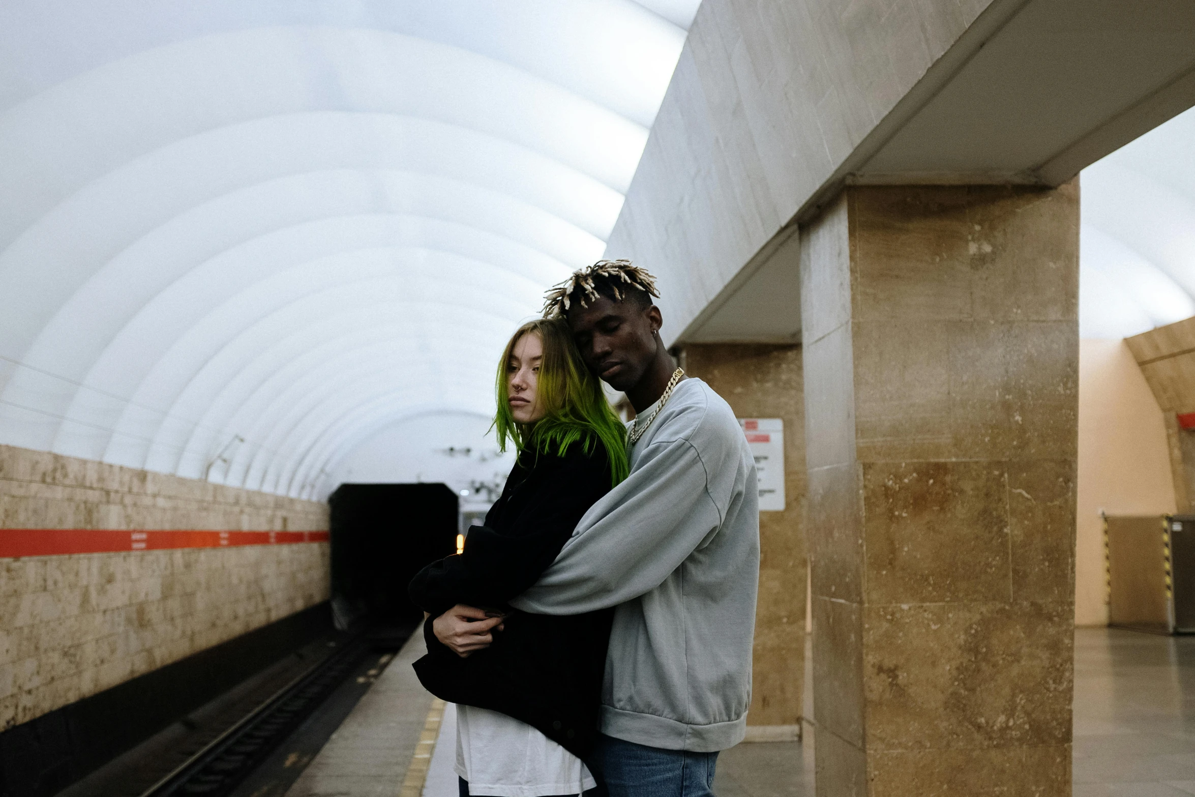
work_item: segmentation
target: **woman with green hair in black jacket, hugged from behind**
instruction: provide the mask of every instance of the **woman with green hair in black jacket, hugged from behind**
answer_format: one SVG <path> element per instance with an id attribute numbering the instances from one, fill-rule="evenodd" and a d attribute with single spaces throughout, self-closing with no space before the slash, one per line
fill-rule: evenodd
<path id="1" fill-rule="evenodd" d="M 517 458 L 502 497 L 464 552 L 424 568 L 411 600 L 429 613 L 415 663 L 433 694 L 458 704 L 462 797 L 549 797 L 595 787 L 583 764 L 598 738 L 613 609 L 574 617 L 516 612 L 586 511 L 626 478 L 626 429 L 563 319 L 523 324 L 498 366 L 498 447 Z M 484 611 L 470 607 L 486 607 Z M 434 623 L 476 620 L 454 652 Z"/>

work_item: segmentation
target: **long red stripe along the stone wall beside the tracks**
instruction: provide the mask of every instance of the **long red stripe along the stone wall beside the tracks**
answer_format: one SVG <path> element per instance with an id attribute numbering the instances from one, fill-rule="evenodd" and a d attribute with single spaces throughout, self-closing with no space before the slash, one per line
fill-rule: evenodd
<path id="1" fill-rule="evenodd" d="M 325 542 L 327 532 L 108 531 L 93 528 L 0 528 L 0 558 L 65 553 L 220 548 L 239 545 Z"/>

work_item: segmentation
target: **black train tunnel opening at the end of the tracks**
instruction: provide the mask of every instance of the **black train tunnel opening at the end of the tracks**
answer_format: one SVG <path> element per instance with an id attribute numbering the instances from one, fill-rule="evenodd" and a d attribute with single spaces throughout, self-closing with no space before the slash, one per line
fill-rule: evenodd
<path id="1" fill-rule="evenodd" d="M 421 623 L 406 586 L 456 552 L 456 493 L 445 484 L 342 484 L 329 504 L 337 627 Z"/>

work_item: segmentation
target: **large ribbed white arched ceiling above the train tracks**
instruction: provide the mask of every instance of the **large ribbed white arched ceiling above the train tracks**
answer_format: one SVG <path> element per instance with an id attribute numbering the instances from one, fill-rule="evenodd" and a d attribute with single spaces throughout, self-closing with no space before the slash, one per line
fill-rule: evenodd
<path id="1" fill-rule="evenodd" d="M 4 4 L 0 442 L 318 496 L 378 429 L 492 413 L 697 5 Z"/>

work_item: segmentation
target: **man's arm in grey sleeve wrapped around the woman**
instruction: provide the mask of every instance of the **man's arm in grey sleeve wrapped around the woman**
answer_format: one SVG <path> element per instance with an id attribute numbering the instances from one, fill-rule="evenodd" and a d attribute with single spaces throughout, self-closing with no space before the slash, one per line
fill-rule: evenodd
<path id="1" fill-rule="evenodd" d="M 719 454 L 717 466 L 736 467 Z M 635 472 L 586 513 L 540 580 L 510 603 L 538 614 L 581 614 L 638 597 L 717 532 L 722 511 L 698 450 L 687 440 L 654 443 Z"/>

